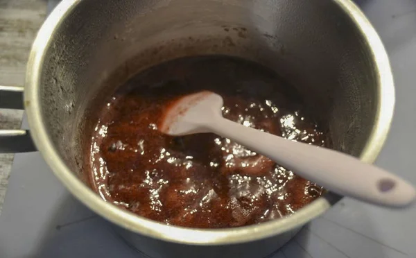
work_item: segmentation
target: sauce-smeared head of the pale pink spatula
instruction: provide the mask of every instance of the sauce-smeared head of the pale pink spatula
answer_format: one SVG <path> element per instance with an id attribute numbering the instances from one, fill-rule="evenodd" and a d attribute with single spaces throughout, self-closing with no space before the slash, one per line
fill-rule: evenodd
<path id="1" fill-rule="evenodd" d="M 214 92 L 198 92 L 177 98 L 164 113 L 159 130 L 180 136 L 209 132 L 207 124 L 222 116 L 223 98 Z"/>

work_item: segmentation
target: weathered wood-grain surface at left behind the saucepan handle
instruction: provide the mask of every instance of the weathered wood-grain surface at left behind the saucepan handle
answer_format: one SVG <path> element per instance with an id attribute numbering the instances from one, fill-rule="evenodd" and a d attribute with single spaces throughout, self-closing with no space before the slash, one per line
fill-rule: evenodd
<path id="1" fill-rule="evenodd" d="M 24 84 L 28 53 L 46 17 L 46 4 L 46 0 L 0 0 L 0 85 Z M 0 129 L 19 128 L 22 114 L 0 110 Z M 12 154 L 0 154 L 0 213 L 12 161 Z"/>

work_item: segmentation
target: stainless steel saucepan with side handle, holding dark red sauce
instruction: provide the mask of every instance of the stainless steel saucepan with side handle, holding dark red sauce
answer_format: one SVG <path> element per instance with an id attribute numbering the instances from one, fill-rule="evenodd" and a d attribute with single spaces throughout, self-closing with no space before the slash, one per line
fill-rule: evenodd
<path id="1" fill-rule="evenodd" d="M 31 128 L 31 136 L 0 131 L 0 150 L 36 146 L 76 198 L 150 257 L 264 257 L 340 196 L 259 225 L 196 230 L 105 203 L 84 180 L 89 105 L 141 69 L 209 54 L 275 69 L 329 126 L 336 149 L 365 162 L 381 150 L 395 102 L 392 72 L 379 36 L 349 0 L 64 0 L 36 37 L 24 89 L 0 88 L 0 107 L 23 103 Z"/>

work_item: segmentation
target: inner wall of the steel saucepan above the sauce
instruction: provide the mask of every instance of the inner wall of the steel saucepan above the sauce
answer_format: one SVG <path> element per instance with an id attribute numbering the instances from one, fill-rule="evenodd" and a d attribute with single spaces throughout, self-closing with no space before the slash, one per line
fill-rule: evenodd
<path id="1" fill-rule="evenodd" d="M 367 43 L 335 1 L 90 0 L 55 31 L 42 71 L 44 122 L 68 166 L 83 171 L 92 103 L 141 69 L 209 54 L 277 71 L 329 127 L 334 148 L 360 155 L 376 118 L 378 81 Z"/>

